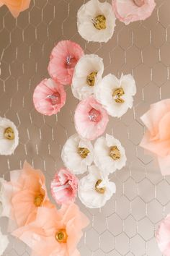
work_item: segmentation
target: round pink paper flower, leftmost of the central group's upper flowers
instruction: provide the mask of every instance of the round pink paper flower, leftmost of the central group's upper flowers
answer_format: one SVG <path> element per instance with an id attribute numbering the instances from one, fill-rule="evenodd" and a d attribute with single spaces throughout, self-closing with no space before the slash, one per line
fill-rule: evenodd
<path id="1" fill-rule="evenodd" d="M 66 92 L 59 82 L 45 79 L 35 88 L 33 101 L 38 112 L 51 116 L 57 114 L 66 103 Z"/>

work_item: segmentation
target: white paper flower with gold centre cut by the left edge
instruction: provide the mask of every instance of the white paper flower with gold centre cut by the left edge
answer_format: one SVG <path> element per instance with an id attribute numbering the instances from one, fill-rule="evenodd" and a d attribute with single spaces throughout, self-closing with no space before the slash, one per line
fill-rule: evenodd
<path id="1" fill-rule="evenodd" d="M 15 124 L 0 117 L 0 155 L 12 155 L 18 143 L 18 130 Z"/>

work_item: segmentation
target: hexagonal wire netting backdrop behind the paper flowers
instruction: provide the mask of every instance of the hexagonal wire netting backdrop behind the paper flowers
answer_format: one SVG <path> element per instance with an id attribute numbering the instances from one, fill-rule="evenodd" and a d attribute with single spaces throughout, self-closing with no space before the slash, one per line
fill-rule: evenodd
<path id="1" fill-rule="evenodd" d="M 154 237 L 159 221 L 170 212 L 170 179 L 161 176 L 151 155 L 138 146 L 144 127 L 140 116 L 151 103 L 169 97 L 170 1 L 156 0 L 156 9 L 144 22 L 128 26 L 117 20 L 108 43 L 86 43 L 77 32 L 76 13 L 84 1 L 32 0 L 30 9 L 15 20 L 6 7 L 0 9 L 0 115 L 19 129 L 19 147 L 12 156 L 1 156 L 1 176 L 22 168 L 26 159 L 44 171 L 48 189 L 55 171 L 63 166 L 61 148 L 75 132 L 76 101 L 67 88 L 66 106 L 58 116 L 35 111 L 32 93 L 48 77 L 48 60 L 55 43 L 71 39 L 86 54 L 104 58 L 104 74 L 123 72 L 135 77 L 138 93 L 134 106 L 121 119 L 110 118 L 107 133 L 125 146 L 128 163 L 112 175 L 117 192 L 102 209 L 81 209 L 90 226 L 79 244 L 81 256 L 158 256 Z M 1 220 L 6 230 L 6 220 Z M 30 255 L 30 250 L 10 237 L 5 255 Z"/>

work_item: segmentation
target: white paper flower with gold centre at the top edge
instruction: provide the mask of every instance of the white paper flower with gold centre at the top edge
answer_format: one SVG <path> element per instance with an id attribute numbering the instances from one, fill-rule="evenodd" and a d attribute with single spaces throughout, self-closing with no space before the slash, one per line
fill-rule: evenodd
<path id="1" fill-rule="evenodd" d="M 107 42 L 115 30 L 115 14 L 112 5 L 90 0 L 77 14 L 78 31 L 82 38 L 94 42 Z"/>

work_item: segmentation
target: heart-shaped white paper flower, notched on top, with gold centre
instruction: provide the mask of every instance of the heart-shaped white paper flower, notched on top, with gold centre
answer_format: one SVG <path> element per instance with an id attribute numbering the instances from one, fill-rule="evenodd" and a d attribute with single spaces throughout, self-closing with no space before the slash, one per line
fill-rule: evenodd
<path id="1" fill-rule="evenodd" d="M 131 74 L 123 75 L 120 80 L 114 74 L 108 74 L 95 87 L 97 101 L 110 116 L 120 117 L 133 107 L 133 95 L 136 93 L 135 80 Z"/>

